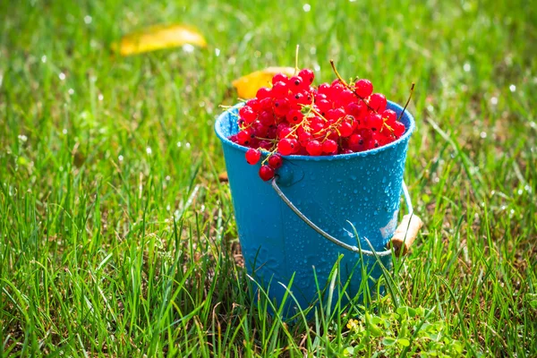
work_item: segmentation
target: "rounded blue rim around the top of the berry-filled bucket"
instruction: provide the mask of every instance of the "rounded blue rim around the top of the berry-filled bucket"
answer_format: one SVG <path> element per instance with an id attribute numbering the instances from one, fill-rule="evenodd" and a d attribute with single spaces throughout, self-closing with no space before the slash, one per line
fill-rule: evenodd
<path id="1" fill-rule="evenodd" d="M 387 108 L 392 109 L 392 110 L 396 110 L 396 112 L 399 112 L 399 113 L 403 111 L 403 107 L 398 105 L 396 102 L 392 102 L 390 100 L 388 100 L 387 102 L 388 102 Z M 235 143 L 234 141 L 230 141 L 224 135 L 224 133 L 222 133 L 222 131 L 220 129 L 220 125 L 219 125 L 220 122 L 222 122 L 224 120 L 224 117 L 226 115 L 228 115 L 234 109 L 243 107 L 244 103 L 245 102 L 236 104 L 234 107 L 228 108 L 226 110 L 226 112 L 218 115 L 217 120 L 215 121 L 214 128 L 215 128 L 215 132 L 217 133 L 218 139 L 220 141 L 222 141 L 223 144 L 225 144 L 227 146 L 230 146 L 230 147 L 233 147 L 235 149 L 239 149 L 239 150 L 241 150 L 241 151 L 243 151 L 245 153 L 249 148 L 244 147 L 242 145 L 239 145 L 239 144 Z M 368 149 L 368 150 L 359 151 L 359 152 L 356 152 L 356 153 L 337 154 L 337 155 L 333 155 L 333 156 L 316 156 L 316 157 L 312 157 L 312 156 L 299 156 L 299 155 L 292 155 L 292 156 L 282 156 L 281 154 L 279 154 L 279 155 L 282 158 L 286 158 L 286 159 L 304 160 L 304 161 L 324 161 L 324 160 L 335 160 L 335 159 L 339 159 L 339 158 L 348 159 L 348 158 L 358 158 L 358 157 L 367 157 L 367 156 L 370 156 L 370 155 L 375 155 L 375 154 L 377 154 L 379 152 L 382 152 L 384 150 L 391 149 L 391 148 L 395 147 L 397 144 L 399 144 L 399 143 L 401 143 L 403 141 L 407 141 L 409 139 L 409 137 L 411 136 L 411 134 L 413 133 L 413 131 L 415 129 L 415 121 L 414 121 L 413 115 L 408 110 L 405 110 L 405 114 L 403 116 L 408 119 L 408 127 L 406 127 L 405 133 L 401 137 L 396 139 L 396 141 L 392 141 L 391 143 L 388 143 L 387 145 L 379 147 L 379 148 Z M 266 150 L 263 150 L 263 151 L 261 151 L 261 153 L 266 155 L 268 152 Z"/>

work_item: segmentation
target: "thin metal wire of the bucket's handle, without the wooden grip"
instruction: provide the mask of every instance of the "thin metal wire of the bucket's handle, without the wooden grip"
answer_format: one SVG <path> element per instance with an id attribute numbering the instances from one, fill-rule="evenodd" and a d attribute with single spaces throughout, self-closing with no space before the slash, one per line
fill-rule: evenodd
<path id="1" fill-rule="evenodd" d="M 392 251 L 394 250 L 393 248 L 390 248 L 390 249 L 385 250 L 385 251 L 369 251 L 369 250 L 360 249 L 357 246 L 349 245 L 348 243 L 343 243 L 343 242 L 337 240 L 337 238 L 335 238 L 334 236 L 328 234 L 323 229 L 321 229 L 319 226 L 315 225 L 308 217 L 306 217 L 299 209 L 297 209 L 294 206 L 294 204 L 291 202 L 291 200 L 289 200 L 286 197 L 286 194 L 284 194 L 284 192 L 282 192 L 282 190 L 279 188 L 279 186 L 276 183 L 276 179 L 277 179 L 276 177 L 274 177 L 272 179 L 272 188 L 274 189 L 275 192 L 277 192 L 277 195 L 281 198 L 281 200 L 284 200 L 284 202 L 287 204 L 289 209 L 293 210 L 294 214 L 296 214 L 297 217 L 300 217 L 303 220 L 304 223 L 306 223 L 308 226 L 310 226 L 313 230 L 315 230 L 318 234 L 320 234 L 324 238 L 328 239 L 332 243 L 336 243 L 338 246 L 341 246 L 341 247 L 343 247 L 344 249 L 346 249 L 348 251 L 353 251 L 355 253 L 362 253 L 362 255 L 366 255 L 366 256 L 374 256 L 375 254 L 377 256 L 388 256 L 388 255 L 392 254 Z M 410 200 L 410 194 L 408 193 L 408 189 L 406 188 L 406 185 L 405 185 L 405 181 L 403 181 L 403 193 L 405 195 L 406 208 L 409 211 L 408 214 L 412 215 L 413 214 L 413 206 L 412 206 L 412 202 Z M 367 241 L 367 239 L 365 239 L 365 240 Z M 369 241 L 368 241 L 368 243 L 369 243 Z"/>

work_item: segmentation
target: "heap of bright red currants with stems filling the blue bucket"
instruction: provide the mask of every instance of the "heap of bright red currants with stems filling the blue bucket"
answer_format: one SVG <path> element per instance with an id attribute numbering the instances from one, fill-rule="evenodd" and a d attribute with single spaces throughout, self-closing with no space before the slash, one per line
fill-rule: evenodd
<path id="1" fill-rule="evenodd" d="M 261 88 L 239 109 L 240 131 L 231 141 L 249 147 L 246 161 L 260 166 L 268 181 L 282 166 L 282 157 L 332 156 L 375 149 L 405 133 L 387 100 L 373 93 L 369 80 L 347 83 L 341 77 L 331 84 L 312 87 L 315 75 L 303 69 L 289 78 L 277 73 L 272 87 Z"/>

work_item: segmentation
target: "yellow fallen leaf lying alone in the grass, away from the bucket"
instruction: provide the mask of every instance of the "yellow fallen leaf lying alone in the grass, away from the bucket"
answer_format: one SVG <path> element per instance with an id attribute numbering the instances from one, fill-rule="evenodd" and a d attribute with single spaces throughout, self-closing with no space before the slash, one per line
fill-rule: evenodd
<path id="1" fill-rule="evenodd" d="M 184 25 L 158 25 L 125 35 L 121 39 L 119 53 L 136 55 L 183 45 L 207 47 L 207 42 L 200 32 Z M 117 49 L 117 44 L 112 47 Z"/>

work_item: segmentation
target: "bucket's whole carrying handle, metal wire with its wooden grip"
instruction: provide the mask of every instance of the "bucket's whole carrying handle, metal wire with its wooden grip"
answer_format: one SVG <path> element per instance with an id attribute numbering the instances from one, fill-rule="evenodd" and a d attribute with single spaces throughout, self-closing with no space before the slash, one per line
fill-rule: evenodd
<path id="1" fill-rule="evenodd" d="M 280 187 L 276 183 L 276 177 L 272 179 L 272 189 L 277 193 L 277 195 L 280 197 L 281 200 L 284 200 L 284 202 L 287 204 L 289 209 L 293 210 L 294 214 L 296 214 L 297 217 L 300 217 L 304 223 L 306 223 L 308 226 L 310 226 L 313 230 L 315 230 L 318 234 L 323 236 L 325 239 L 332 243 L 336 243 L 338 246 L 343 247 L 344 249 L 348 251 L 353 251 L 355 253 L 362 253 L 362 255 L 365 256 L 374 256 L 375 254 L 377 256 L 388 256 L 392 254 L 392 251 L 396 253 L 396 255 L 405 255 L 406 252 L 410 249 L 410 246 L 414 242 L 416 236 L 418 235 L 418 232 L 420 228 L 422 228 L 422 220 L 419 217 L 416 217 L 413 215 L 413 206 L 412 201 L 410 199 L 410 194 L 408 192 L 408 189 L 406 188 L 405 181 L 403 181 L 403 194 L 405 195 L 405 203 L 406 203 L 406 209 L 408 209 L 408 214 L 403 217 L 403 220 L 397 226 L 396 232 L 391 238 L 390 241 L 390 248 L 385 251 L 369 251 L 369 250 L 363 250 L 360 249 L 357 246 L 349 245 L 348 243 L 343 243 L 334 236 L 328 234 L 323 229 L 321 229 L 319 226 L 315 225 L 308 217 L 306 217 L 302 211 L 297 209 L 294 204 L 286 197 L 286 194 L 282 192 Z M 367 239 L 366 239 L 367 240 Z M 369 243 L 369 242 L 368 242 Z"/>

